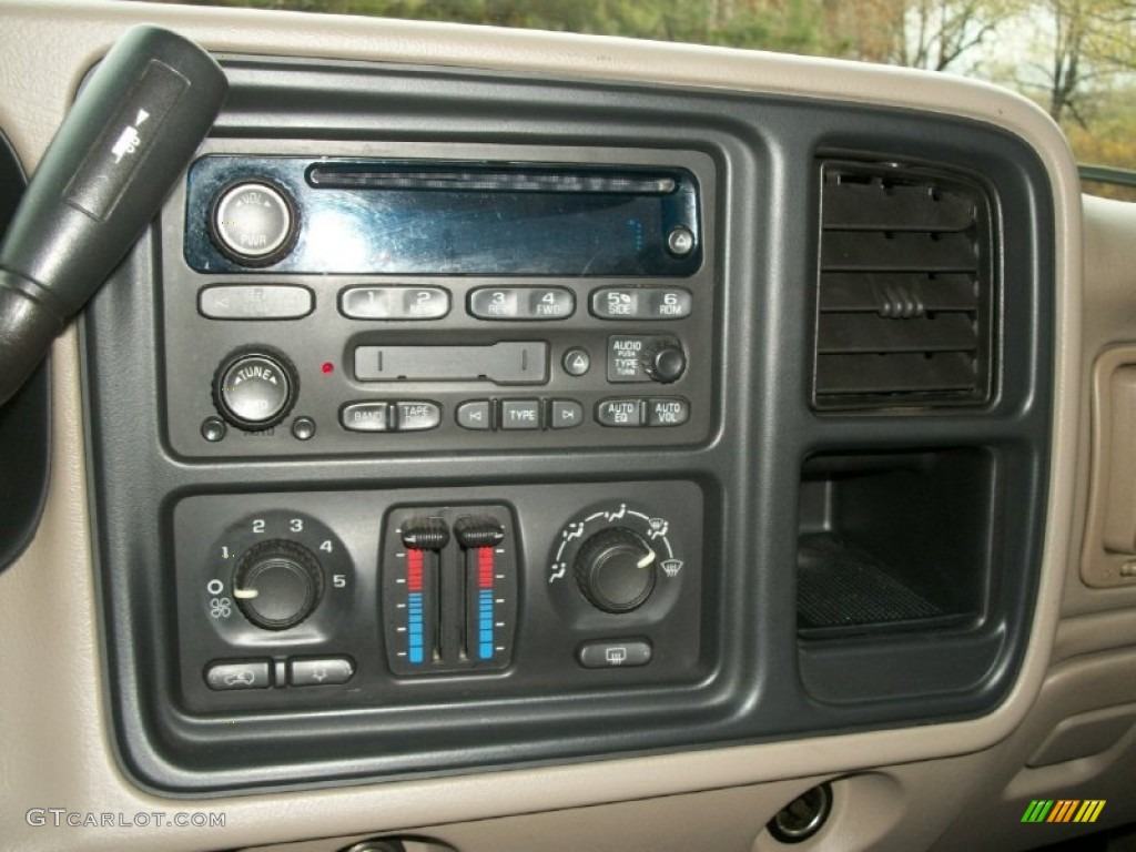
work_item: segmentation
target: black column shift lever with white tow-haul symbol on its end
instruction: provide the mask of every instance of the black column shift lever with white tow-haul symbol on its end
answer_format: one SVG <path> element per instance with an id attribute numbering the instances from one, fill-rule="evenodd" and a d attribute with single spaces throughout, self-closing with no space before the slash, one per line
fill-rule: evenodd
<path id="1" fill-rule="evenodd" d="M 158 212 L 227 90 L 207 52 L 152 26 L 91 75 L 0 243 L 0 404 Z"/>

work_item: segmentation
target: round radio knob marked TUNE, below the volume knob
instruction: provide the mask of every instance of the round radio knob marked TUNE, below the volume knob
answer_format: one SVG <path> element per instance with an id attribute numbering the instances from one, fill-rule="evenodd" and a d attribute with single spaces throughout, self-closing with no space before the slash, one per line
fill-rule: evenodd
<path id="1" fill-rule="evenodd" d="M 298 390 L 292 362 L 265 346 L 231 353 L 214 374 L 217 411 L 245 432 L 269 429 L 287 417 Z"/>

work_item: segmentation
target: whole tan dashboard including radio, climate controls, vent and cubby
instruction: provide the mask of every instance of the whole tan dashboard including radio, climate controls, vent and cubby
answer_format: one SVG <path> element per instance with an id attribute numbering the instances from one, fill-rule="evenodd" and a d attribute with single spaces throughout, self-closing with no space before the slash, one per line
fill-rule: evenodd
<path id="1" fill-rule="evenodd" d="M 12 185 L 131 24 L 229 84 L 0 410 L 6 457 L 51 433 L 0 574 L 16 847 L 1133 821 L 1133 215 L 1031 105 L 546 33 L 0 14 Z M 1105 804 L 1044 834 L 1047 800 Z"/>

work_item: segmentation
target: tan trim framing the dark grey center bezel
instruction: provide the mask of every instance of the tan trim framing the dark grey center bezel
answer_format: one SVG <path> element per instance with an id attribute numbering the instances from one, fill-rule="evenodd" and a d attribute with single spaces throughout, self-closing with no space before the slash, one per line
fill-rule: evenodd
<path id="1" fill-rule="evenodd" d="M 295 17 L 128 2 L 22 0 L 0 7 L 0 126 L 30 169 L 90 65 L 131 24 L 177 28 L 216 51 L 470 66 L 559 77 L 660 84 L 916 107 L 967 116 L 1027 140 L 1039 152 L 1056 207 L 1056 402 L 1044 577 L 1021 678 L 983 719 L 797 742 L 390 783 L 272 797 L 170 802 L 139 790 L 118 768 L 97 629 L 78 356 L 74 332 L 53 353 L 53 477 L 40 533 L 0 575 L 0 801 L 6 842 L 57 849 L 67 835 L 30 827 L 27 808 L 223 810 L 223 845 L 376 832 L 834 774 L 985 749 L 1021 721 L 1050 655 L 1069 554 L 1077 403 L 1080 399 L 1080 190 L 1063 136 L 1027 101 L 949 76 L 786 56 L 562 34 L 406 22 Z M 156 566 L 161 570 L 161 566 Z M 23 696 L 11 700 L 12 696 Z M 282 805 L 287 819 L 282 819 Z M 149 850 L 157 829 L 73 835 L 85 849 Z M 165 850 L 216 846 L 216 829 L 160 832 Z"/>

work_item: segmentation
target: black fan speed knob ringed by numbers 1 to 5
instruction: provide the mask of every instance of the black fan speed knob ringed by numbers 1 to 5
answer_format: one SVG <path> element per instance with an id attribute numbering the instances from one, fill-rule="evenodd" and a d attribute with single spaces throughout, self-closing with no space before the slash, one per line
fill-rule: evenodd
<path id="1" fill-rule="evenodd" d="M 254 544 L 236 566 L 236 605 L 266 630 L 295 627 L 312 613 L 323 594 L 319 560 L 302 544 L 285 538 Z"/>

